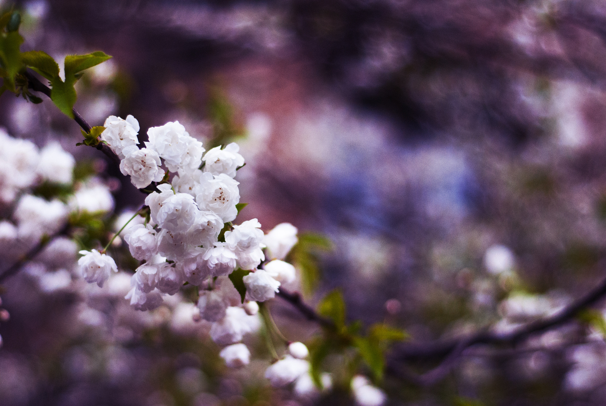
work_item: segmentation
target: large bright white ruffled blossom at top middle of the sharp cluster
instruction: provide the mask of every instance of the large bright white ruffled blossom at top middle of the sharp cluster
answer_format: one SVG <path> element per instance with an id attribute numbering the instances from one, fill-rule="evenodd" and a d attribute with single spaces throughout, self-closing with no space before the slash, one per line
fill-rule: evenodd
<path id="1" fill-rule="evenodd" d="M 149 141 L 145 146 L 158 152 L 168 171 L 176 172 L 187 153 L 189 134 L 179 121 L 169 122 L 164 126 L 151 127 L 147 130 Z"/>

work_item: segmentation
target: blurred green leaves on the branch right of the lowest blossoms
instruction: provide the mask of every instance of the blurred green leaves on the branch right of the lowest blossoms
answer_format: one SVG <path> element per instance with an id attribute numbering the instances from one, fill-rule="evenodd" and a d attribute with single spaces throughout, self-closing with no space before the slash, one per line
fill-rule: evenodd
<path id="1" fill-rule="evenodd" d="M 360 364 L 370 370 L 373 380 L 380 382 L 385 368 L 385 353 L 391 343 L 405 340 L 407 333 L 384 323 L 375 323 L 365 332 L 362 324 L 346 320 L 345 302 L 341 291 L 328 293 L 318 305 L 318 313 L 334 323 L 334 328 L 325 328 L 324 337 L 310 345 L 310 373 L 313 381 L 321 387 L 321 368 L 331 353 L 351 354 L 348 378 L 356 373 Z M 350 351 L 352 350 L 353 351 Z"/>

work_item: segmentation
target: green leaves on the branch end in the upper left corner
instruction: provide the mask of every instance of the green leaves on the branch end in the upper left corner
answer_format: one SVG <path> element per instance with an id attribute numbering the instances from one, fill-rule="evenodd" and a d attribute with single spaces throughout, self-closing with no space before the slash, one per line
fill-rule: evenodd
<path id="1" fill-rule="evenodd" d="M 32 95 L 29 90 L 30 83 L 25 70 L 30 68 L 48 80 L 52 86 L 50 98 L 55 106 L 67 117 L 74 118 L 73 106 L 77 98 L 74 85 L 86 69 L 107 61 L 112 56 L 101 51 L 85 55 L 67 55 L 64 64 L 65 79 L 62 79 L 59 76 L 59 64 L 52 56 L 42 51 L 21 52 L 23 37 L 19 35 L 20 23 L 19 12 L 9 11 L 0 16 L 0 95 L 8 90 L 33 103 L 41 103 L 42 99 Z"/>

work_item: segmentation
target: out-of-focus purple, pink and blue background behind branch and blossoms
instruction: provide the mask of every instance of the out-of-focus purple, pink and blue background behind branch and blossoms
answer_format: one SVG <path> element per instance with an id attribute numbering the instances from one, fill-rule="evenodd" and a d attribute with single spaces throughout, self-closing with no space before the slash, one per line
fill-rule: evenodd
<path id="1" fill-rule="evenodd" d="M 178 120 L 207 149 L 240 144 L 250 205 L 239 221 L 258 218 L 265 232 L 290 222 L 333 242 L 310 303 L 339 286 L 348 319 L 385 320 L 428 342 L 552 314 L 604 275 L 604 2 L 16 5 L 22 50 L 113 55 L 78 84 L 76 109 L 91 125 L 132 114 L 141 141 Z M 75 146 L 78 126 L 47 100 L 3 95 L 0 125 L 90 160 L 116 214 L 144 200 L 101 154 Z M 203 327 L 179 325 L 187 314 L 128 319 L 119 289 L 97 302 L 90 293 L 83 310 L 81 296 L 42 294 L 27 272 L 4 288 L 1 405 L 353 402 L 271 390 L 254 362 L 228 371 Z M 279 299 L 271 306 L 289 339 L 315 331 Z M 388 404 L 604 404 L 600 312 L 519 351 L 470 351 L 431 390 L 387 377 Z"/>

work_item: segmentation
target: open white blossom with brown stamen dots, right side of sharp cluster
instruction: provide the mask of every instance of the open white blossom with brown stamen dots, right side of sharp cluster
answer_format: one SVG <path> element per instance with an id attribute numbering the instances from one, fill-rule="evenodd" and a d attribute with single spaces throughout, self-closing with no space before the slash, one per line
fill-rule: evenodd
<path id="1" fill-rule="evenodd" d="M 231 222 L 238 215 L 236 205 L 240 202 L 238 181 L 225 174 L 213 176 L 204 172 L 199 178 L 199 192 L 196 202 L 201 210 L 217 214 L 223 222 Z"/>

